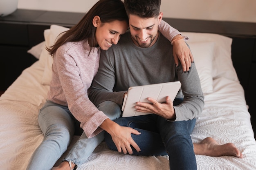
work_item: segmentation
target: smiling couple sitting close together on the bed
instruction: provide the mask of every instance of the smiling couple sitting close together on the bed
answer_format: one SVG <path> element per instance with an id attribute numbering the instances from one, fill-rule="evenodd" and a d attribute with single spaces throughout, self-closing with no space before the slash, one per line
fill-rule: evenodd
<path id="1" fill-rule="evenodd" d="M 243 157 L 234 144 L 218 145 L 210 137 L 192 143 L 190 134 L 204 96 L 191 52 L 180 33 L 162 21 L 160 4 L 161 0 L 100 0 L 48 47 L 53 75 L 38 115 L 45 138 L 27 170 L 79 167 L 103 141 L 104 132 L 111 149 L 169 155 L 171 169 L 197 169 L 195 154 Z M 153 104 L 138 102 L 136 109 L 153 114 L 119 118 L 128 87 L 175 80 L 182 83 L 175 101 L 166 97 L 160 104 L 148 98 Z M 53 167 L 67 150 L 76 122 L 83 129 L 80 139 Z"/>

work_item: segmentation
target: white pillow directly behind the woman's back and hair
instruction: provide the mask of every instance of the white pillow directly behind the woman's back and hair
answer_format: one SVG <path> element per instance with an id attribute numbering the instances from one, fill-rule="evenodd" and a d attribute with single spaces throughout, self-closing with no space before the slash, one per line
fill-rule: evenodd
<path id="1" fill-rule="evenodd" d="M 47 47 L 54 45 L 56 39 L 58 38 L 58 35 L 67 30 L 69 30 L 69 28 L 58 25 L 51 25 L 50 29 L 44 31 L 45 45 Z M 45 66 L 41 84 L 49 85 L 52 79 L 53 58 L 51 55 L 49 55 L 48 51 L 45 48 L 40 55 L 39 61 Z"/>

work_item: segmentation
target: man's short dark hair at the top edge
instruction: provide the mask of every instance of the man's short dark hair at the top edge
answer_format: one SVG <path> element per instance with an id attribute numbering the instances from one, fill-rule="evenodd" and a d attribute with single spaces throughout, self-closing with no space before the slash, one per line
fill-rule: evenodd
<path id="1" fill-rule="evenodd" d="M 155 18 L 159 15 L 161 0 L 124 0 L 126 13 L 141 18 Z"/>

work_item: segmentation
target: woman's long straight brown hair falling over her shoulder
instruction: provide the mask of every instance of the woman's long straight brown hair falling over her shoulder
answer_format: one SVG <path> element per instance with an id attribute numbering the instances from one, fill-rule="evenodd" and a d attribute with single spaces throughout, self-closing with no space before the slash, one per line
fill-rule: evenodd
<path id="1" fill-rule="evenodd" d="M 99 0 L 75 26 L 61 33 L 61 37 L 53 46 L 47 47 L 49 54 L 53 56 L 57 49 L 66 42 L 78 42 L 85 39 L 88 39 L 91 49 L 96 47 L 98 45 L 95 38 L 96 28 L 92 24 L 96 15 L 100 17 L 102 23 L 114 20 L 129 22 L 124 2 L 121 0 Z"/>

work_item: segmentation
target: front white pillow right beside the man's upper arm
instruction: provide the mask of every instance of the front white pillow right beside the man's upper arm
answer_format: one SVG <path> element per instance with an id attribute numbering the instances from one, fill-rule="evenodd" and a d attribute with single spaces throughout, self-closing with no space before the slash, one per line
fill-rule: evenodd
<path id="1" fill-rule="evenodd" d="M 199 42 L 188 44 L 194 57 L 194 62 L 200 78 L 202 91 L 204 94 L 212 93 L 212 61 L 215 43 Z"/>

